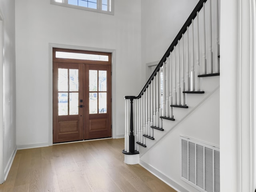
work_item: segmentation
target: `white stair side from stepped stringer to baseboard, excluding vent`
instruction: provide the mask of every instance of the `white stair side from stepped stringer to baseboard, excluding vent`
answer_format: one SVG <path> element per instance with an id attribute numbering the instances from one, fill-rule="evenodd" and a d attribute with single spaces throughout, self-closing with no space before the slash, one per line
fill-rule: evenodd
<path id="1" fill-rule="evenodd" d="M 154 130 L 156 144 L 140 150 L 140 164 L 170 186 L 182 192 L 199 192 L 180 179 L 180 136 L 193 138 L 212 146 L 220 146 L 219 77 L 204 79 L 205 94 L 188 94 L 188 109 L 174 108 L 175 121 L 163 120 L 164 131 Z M 202 102 L 203 101 L 203 102 Z M 158 135 L 168 132 L 158 141 Z"/>

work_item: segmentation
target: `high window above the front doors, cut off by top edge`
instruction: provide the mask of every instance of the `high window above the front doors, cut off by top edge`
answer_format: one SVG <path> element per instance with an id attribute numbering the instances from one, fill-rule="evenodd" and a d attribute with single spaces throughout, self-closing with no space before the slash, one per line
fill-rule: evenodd
<path id="1" fill-rule="evenodd" d="M 114 0 L 51 0 L 51 4 L 114 14 Z"/>

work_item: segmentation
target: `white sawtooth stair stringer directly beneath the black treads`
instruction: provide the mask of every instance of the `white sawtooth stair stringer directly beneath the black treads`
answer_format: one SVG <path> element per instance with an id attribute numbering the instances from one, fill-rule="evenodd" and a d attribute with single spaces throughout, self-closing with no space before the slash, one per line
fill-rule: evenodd
<path id="1" fill-rule="evenodd" d="M 147 152 L 151 147 L 157 144 L 162 138 L 164 138 L 173 128 L 178 126 L 178 124 L 186 119 L 186 117 L 196 110 L 198 106 L 200 106 L 208 97 L 211 96 L 220 86 L 220 76 L 212 76 L 212 77 L 204 77 L 202 79 L 202 90 L 205 92 L 204 94 L 186 94 L 186 104 L 188 108 L 177 108 L 173 107 L 173 114 L 175 121 L 170 121 L 163 119 L 163 128 L 164 131 L 155 130 L 154 129 L 154 138 L 155 140 L 150 140 L 148 138 L 144 138 L 146 140 L 146 148 L 139 146 L 140 156 L 142 156 L 145 152 Z M 166 126 L 166 123 L 169 126 Z"/>

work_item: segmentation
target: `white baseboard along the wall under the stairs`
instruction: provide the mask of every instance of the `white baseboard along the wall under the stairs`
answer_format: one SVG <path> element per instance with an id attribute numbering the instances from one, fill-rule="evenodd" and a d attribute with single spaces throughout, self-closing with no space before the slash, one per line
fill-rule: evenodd
<path id="1" fill-rule="evenodd" d="M 184 187 L 180 186 L 177 182 L 172 180 L 172 178 L 166 176 L 164 173 L 160 172 L 159 170 L 157 170 L 153 166 L 147 164 L 146 162 L 144 162 L 141 159 L 140 159 L 140 165 L 142 167 L 144 167 L 146 170 L 148 170 L 150 173 L 152 173 L 154 176 L 156 176 L 157 178 L 159 178 L 160 180 L 162 180 L 163 182 L 168 184 L 170 187 L 172 187 L 177 192 L 189 192 Z"/>

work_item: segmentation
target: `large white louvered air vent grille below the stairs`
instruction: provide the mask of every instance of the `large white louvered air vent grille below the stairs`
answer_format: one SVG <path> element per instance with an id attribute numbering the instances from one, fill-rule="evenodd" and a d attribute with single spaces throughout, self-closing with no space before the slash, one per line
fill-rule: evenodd
<path id="1" fill-rule="evenodd" d="M 220 192 L 220 149 L 180 136 L 180 176 L 202 192 Z"/>

